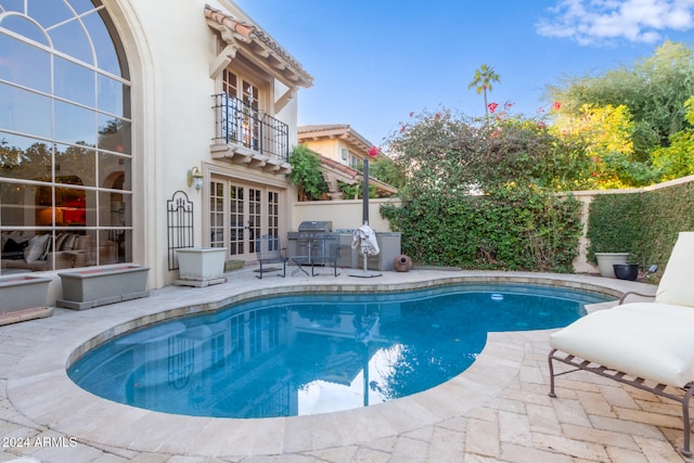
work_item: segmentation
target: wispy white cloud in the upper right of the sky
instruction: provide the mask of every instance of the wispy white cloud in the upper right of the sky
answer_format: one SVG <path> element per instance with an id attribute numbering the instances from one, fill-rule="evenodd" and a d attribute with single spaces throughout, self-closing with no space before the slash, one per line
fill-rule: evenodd
<path id="1" fill-rule="evenodd" d="M 694 28 L 694 0 L 561 0 L 536 24 L 538 34 L 581 44 L 653 43 L 665 30 Z"/>

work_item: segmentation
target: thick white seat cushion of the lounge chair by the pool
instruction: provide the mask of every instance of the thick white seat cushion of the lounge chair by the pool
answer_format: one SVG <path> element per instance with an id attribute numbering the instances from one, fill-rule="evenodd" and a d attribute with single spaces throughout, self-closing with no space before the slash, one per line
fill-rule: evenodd
<path id="1" fill-rule="evenodd" d="M 634 303 L 590 313 L 553 333 L 563 352 L 669 386 L 694 381 L 694 309 Z"/>

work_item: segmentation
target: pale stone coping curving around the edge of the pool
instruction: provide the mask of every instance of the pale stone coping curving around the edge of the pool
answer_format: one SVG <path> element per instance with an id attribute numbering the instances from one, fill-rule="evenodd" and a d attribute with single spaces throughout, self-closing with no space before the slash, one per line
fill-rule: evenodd
<path id="1" fill-rule="evenodd" d="M 129 330 L 159 320 L 164 312 L 182 314 L 213 310 L 229 301 L 278 291 L 403 291 L 459 282 L 544 284 L 603 292 L 615 298 L 625 291 L 655 291 L 654 286 L 642 283 L 588 275 L 422 271 L 411 272 L 404 278 L 397 274 L 384 276 L 387 278 L 381 281 L 340 279 L 339 282 L 333 278 L 277 279 L 270 282 L 248 278 L 243 280 L 243 285 L 227 283 L 206 291 L 166 287 L 154 292 L 153 299 L 166 293 L 170 300 L 157 307 L 145 307 L 147 299 L 140 299 L 104 306 L 79 316 L 66 313 L 85 322 L 75 323 L 69 332 L 33 348 L 10 372 L 7 394 L 14 407 L 33 422 L 78 441 L 103 447 L 229 458 L 349 446 L 441 423 L 496 397 L 518 375 L 524 355 L 510 348 L 506 340 L 537 336 L 538 332 L 490 333 L 487 345 L 471 368 L 426 391 L 368 408 L 307 416 L 213 419 L 138 409 L 111 402 L 79 388 L 67 377 L 66 366 L 80 349 L 92 347 L 121 329 Z M 549 336 L 549 332 L 544 335 Z"/>

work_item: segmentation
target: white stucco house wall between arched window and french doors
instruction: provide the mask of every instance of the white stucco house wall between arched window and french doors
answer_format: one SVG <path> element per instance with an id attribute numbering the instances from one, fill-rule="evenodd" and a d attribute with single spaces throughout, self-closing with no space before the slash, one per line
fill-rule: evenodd
<path id="1" fill-rule="evenodd" d="M 125 43 L 133 85 L 133 261 L 150 266 L 149 285 L 160 287 L 176 278 L 168 271 L 167 200 L 178 190 L 189 195 L 194 203 L 195 245 L 203 245 L 208 193 L 190 188 L 187 173 L 192 166 L 203 170 L 205 163 L 233 168 L 210 155 L 211 95 L 218 91 L 209 65 L 216 42 L 204 14 L 206 4 L 227 10 L 228 3 L 188 0 L 176 8 L 153 0 L 104 3 Z M 290 126 L 290 146 L 296 144 L 296 114 L 295 95 L 275 115 Z"/>

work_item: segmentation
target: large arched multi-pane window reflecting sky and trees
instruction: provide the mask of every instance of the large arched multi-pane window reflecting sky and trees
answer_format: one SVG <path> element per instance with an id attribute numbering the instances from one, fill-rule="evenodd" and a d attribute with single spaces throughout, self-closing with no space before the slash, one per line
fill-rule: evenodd
<path id="1" fill-rule="evenodd" d="M 2 274 L 131 260 L 130 89 L 100 0 L 0 0 Z"/>

